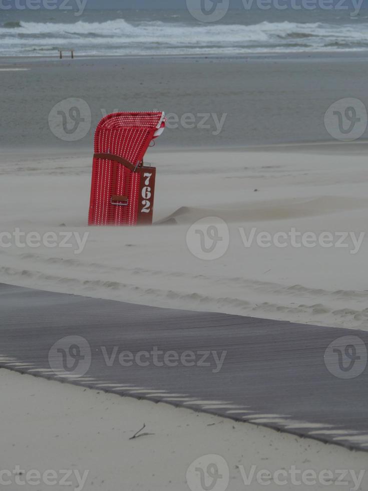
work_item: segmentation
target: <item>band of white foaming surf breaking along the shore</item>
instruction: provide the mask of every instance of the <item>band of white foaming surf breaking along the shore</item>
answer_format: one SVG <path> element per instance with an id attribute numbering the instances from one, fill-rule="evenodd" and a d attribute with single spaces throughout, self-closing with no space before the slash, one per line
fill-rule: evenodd
<path id="1" fill-rule="evenodd" d="M 359 43 L 368 47 L 368 23 L 327 24 L 322 22 L 261 22 L 251 25 L 188 25 L 143 21 L 130 24 L 124 19 L 106 22 L 5 23 L 0 27 L 3 49 L 42 50 L 45 46 L 73 46 L 83 54 L 218 53 L 290 51 L 300 48 L 319 51 Z M 217 48 L 219 47 L 219 48 Z M 119 52 L 120 50 L 120 52 Z"/>

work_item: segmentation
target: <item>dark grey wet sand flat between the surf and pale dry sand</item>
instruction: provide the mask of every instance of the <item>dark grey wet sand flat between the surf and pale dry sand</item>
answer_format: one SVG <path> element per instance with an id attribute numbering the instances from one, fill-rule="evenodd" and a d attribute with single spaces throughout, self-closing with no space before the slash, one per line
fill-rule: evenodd
<path id="1" fill-rule="evenodd" d="M 284 54 L 240 57 L 0 58 L 2 148 L 91 148 L 94 128 L 106 113 L 159 109 L 179 121 L 160 137 L 160 147 L 240 147 L 331 141 L 323 125 L 327 108 L 354 97 L 367 105 L 365 53 Z M 82 140 L 54 136 L 48 116 L 69 98 L 86 101 L 91 128 Z M 225 116 L 221 131 L 212 116 Z M 188 120 L 187 120 L 188 121 Z M 189 120 L 190 121 L 190 120 Z M 203 122 L 203 123 L 202 123 Z M 207 127 L 203 127 L 203 125 Z M 366 131 L 362 138 L 366 138 Z"/>

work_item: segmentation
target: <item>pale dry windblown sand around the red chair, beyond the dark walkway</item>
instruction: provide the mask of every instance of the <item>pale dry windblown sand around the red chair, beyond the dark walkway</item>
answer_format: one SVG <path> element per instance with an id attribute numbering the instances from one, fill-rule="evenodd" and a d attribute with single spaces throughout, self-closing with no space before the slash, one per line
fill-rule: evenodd
<path id="1" fill-rule="evenodd" d="M 364 149 L 364 144 L 150 149 L 147 159 L 158 168 L 154 219 L 166 224 L 135 228 L 87 227 L 91 155 L 3 155 L 0 192 L 12 205 L 3 209 L 0 223 L 12 234 L 4 243 L 15 247 L 0 247 L 0 281 L 366 330 Z M 205 219 L 209 225 L 225 220 L 228 248 L 212 260 L 206 254 L 203 259 L 197 225 L 191 228 L 203 217 L 215 217 Z M 37 247 L 32 240 L 17 247 L 16 228 L 42 237 L 55 232 L 60 247 Z M 308 237 L 301 246 L 301 237 L 277 243 L 276 233 L 292 229 L 314 233 L 314 247 Z M 260 232 L 270 234 L 269 247 Z M 332 234 L 331 247 L 318 241 L 322 232 Z M 344 238 L 342 232 L 350 235 Z M 72 237 L 69 248 L 61 247 L 60 234 L 72 233 L 80 237 L 79 246 Z"/>

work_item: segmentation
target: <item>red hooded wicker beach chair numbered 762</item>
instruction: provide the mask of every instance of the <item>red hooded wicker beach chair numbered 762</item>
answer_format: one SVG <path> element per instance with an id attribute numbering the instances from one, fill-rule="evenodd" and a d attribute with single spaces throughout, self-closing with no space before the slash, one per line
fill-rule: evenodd
<path id="1" fill-rule="evenodd" d="M 152 223 L 156 169 L 145 166 L 143 157 L 164 127 L 163 112 L 102 118 L 95 133 L 89 225 Z"/>

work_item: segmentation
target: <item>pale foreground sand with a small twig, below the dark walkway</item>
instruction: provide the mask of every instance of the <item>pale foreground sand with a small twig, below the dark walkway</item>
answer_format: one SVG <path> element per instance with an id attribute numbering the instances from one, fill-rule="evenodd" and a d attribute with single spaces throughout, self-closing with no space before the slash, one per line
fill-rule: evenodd
<path id="1" fill-rule="evenodd" d="M 226 471 L 226 465 L 229 468 L 228 491 L 263 489 L 256 479 L 260 470 L 273 475 L 278 469 L 288 471 L 292 465 L 317 475 L 329 470 L 333 476 L 327 479 L 329 489 L 366 489 L 368 483 L 364 475 L 361 484 L 355 486 L 350 473 L 358 476 L 365 469 L 365 452 L 351 452 L 256 425 L 4 369 L 0 370 L 0 383 L 2 394 L 6 394 L 0 408 L 0 470 L 13 470 L 19 465 L 25 471 L 19 476 L 22 480 L 32 469 L 41 474 L 52 469 L 57 479 L 65 475 L 61 470 L 69 469 L 73 474 L 68 488 L 73 490 L 78 485 L 75 472 L 83 476 L 89 471 L 84 489 L 185 491 L 189 489 L 186 480 L 193 482 L 193 472 L 187 474 L 191 462 L 215 454 L 226 462 L 225 469 L 220 470 Z M 151 434 L 130 440 L 144 423 L 142 433 Z M 219 461 L 218 456 L 215 459 Z M 248 475 L 252 466 L 256 466 L 255 477 L 251 485 L 245 485 L 241 470 Z M 341 475 L 338 469 L 349 470 L 344 484 L 336 482 Z M 299 480 L 300 475 L 299 472 Z M 13 485 L 7 489 L 18 489 L 15 475 L 12 480 Z M 287 480 L 282 486 L 273 482 L 268 487 L 295 489 L 290 474 Z M 221 486 L 218 489 L 225 489 L 221 479 L 217 485 Z M 314 486 L 297 485 L 301 491 L 325 487 L 319 482 Z M 27 491 L 48 488 L 42 483 L 37 487 L 23 485 Z M 192 488 L 197 490 L 201 487 Z"/>

